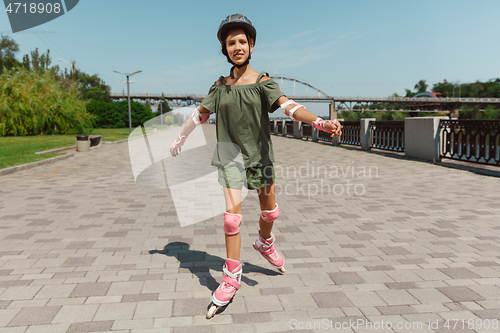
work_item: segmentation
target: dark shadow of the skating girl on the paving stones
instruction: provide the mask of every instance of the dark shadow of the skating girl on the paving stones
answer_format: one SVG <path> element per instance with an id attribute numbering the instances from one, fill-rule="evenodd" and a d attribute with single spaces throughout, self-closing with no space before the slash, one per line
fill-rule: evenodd
<path id="1" fill-rule="evenodd" d="M 165 245 L 163 250 L 150 250 L 150 254 L 164 254 L 169 257 L 175 257 L 179 260 L 179 272 L 188 270 L 200 280 L 202 286 L 207 287 L 211 291 L 215 291 L 219 286 L 219 283 L 210 274 L 210 269 L 220 272 L 222 277 L 222 265 L 224 265 L 225 259 L 217 256 L 213 256 L 204 251 L 190 250 L 189 244 L 184 242 L 172 242 Z M 262 273 L 265 275 L 281 275 L 280 273 L 261 267 L 252 265 L 248 262 L 243 263 L 243 274 L 241 276 L 241 282 L 249 285 L 255 286 L 258 284 L 257 281 L 252 280 L 245 276 L 245 273 Z"/>

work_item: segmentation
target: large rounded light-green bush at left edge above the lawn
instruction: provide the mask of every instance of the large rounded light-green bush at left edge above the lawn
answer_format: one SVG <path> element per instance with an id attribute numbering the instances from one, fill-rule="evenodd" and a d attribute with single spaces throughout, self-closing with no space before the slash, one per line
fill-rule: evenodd
<path id="1" fill-rule="evenodd" d="M 50 71 L 25 68 L 0 74 L 0 135 L 83 133 L 92 127 L 76 86 L 63 88 Z"/>

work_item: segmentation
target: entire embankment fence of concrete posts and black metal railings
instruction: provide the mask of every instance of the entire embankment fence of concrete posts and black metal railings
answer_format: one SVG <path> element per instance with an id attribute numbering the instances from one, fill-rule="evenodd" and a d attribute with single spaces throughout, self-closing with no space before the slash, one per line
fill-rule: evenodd
<path id="1" fill-rule="evenodd" d="M 340 121 L 342 136 L 318 131 L 309 124 L 271 121 L 271 133 L 312 141 L 331 142 L 404 152 L 405 156 L 439 161 L 441 158 L 500 166 L 500 120 L 449 120 L 412 117 L 403 121 Z M 300 132 L 297 132 L 300 131 Z"/>

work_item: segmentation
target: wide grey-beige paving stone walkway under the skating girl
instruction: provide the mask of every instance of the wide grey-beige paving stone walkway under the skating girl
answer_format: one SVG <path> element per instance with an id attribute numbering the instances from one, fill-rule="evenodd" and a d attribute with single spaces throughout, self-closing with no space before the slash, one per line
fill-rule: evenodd
<path id="1" fill-rule="evenodd" d="M 242 287 L 212 320 L 222 217 L 181 228 L 127 143 L 0 177 L 0 332 L 498 332 L 499 178 L 273 142 L 287 272 L 251 247 L 251 192 Z"/>

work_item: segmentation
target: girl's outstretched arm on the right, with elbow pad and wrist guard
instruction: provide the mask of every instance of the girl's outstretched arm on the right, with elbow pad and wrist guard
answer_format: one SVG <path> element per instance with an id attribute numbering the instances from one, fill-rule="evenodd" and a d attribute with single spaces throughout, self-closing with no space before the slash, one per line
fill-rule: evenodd
<path id="1" fill-rule="evenodd" d="M 340 122 L 338 121 L 325 121 L 321 118 L 318 118 L 318 116 L 307 111 L 307 109 L 303 105 L 298 104 L 295 101 L 286 98 L 285 96 L 281 96 L 280 98 L 278 98 L 275 103 L 280 106 L 280 108 L 283 110 L 283 113 L 285 113 L 293 120 L 302 121 L 304 123 L 313 125 L 314 127 L 322 131 L 331 133 L 332 137 L 342 135 L 342 125 L 340 125 Z"/>

